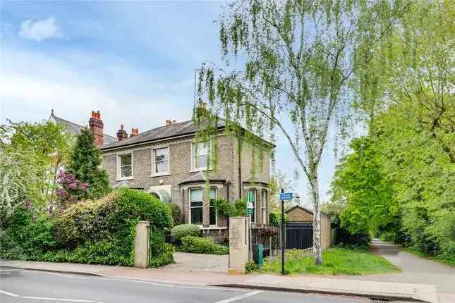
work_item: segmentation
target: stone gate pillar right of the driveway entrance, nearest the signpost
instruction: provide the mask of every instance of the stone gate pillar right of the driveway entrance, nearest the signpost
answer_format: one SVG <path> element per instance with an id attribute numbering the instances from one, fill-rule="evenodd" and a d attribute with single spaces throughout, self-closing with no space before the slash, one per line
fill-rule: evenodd
<path id="1" fill-rule="evenodd" d="M 229 268 L 228 273 L 245 273 L 248 262 L 250 226 L 248 217 L 229 217 Z"/>

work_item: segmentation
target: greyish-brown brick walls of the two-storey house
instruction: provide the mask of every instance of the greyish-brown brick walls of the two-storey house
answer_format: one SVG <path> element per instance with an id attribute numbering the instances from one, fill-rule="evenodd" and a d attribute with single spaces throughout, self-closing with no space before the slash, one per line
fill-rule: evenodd
<path id="1" fill-rule="evenodd" d="M 171 185 L 171 202 L 178 204 L 182 210 L 183 222 L 188 222 L 188 192 L 192 188 L 205 188 L 205 182 L 198 184 L 188 184 L 183 187 L 180 183 L 183 180 L 190 178 L 198 173 L 191 171 L 191 155 L 192 143 L 194 137 L 186 137 L 179 140 L 167 140 L 151 144 L 135 145 L 132 147 L 124 147 L 115 150 L 102 151 L 102 167 L 107 171 L 109 183 L 114 186 L 120 181 L 117 180 L 117 157 L 119 154 L 131 153 L 133 155 L 133 178 L 128 179 L 130 187 L 142 188 L 145 191 L 150 190 L 150 187 L 160 185 Z M 239 188 L 243 180 L 250 176 L 252 168 L 251 148 L 245 145 L 241 154 L 241 180 L 239 183 L 238 174 L 238 153 L 237 153 L 237 138 L 234 135 L 220 135 L 218 137 L 218 159 L 217 170 L 210 171 L 209 175 L 215 175 L 217 179 L 230 182 L 229 199 L 234 200 L 239 197 Z M 152 152 L 153 149 L 159 147 L 169 147 L 169 175 L 152 176 Z M 260 179 L 263 183 L 269 182 L 269 154 L 264 153 L 262 171 L 260 171 Z M 259 168 L 258 168 L 259 169 Z M 212 186 L 212 185 L 210 185 Z M 227 198 L 226 184 L 217 184 L 217 197 Z M 260 202 L 260 192 L 258 191 L 257 202 Z M 209 227 L 210 206 L 208 198 L 205 197 L 206 192 L 203 190 L 204 203 L 202 204 L 203 226 Z M 260 216 L 260 204 L 257 205 L 257 216 Z M 267 214 L 268 216 L 268 214 Z M 227 220 L 224 216 L 217 216 L 217 225 L 226 226 Z M 222 234 L 219 232 L 219 237 Z"/>

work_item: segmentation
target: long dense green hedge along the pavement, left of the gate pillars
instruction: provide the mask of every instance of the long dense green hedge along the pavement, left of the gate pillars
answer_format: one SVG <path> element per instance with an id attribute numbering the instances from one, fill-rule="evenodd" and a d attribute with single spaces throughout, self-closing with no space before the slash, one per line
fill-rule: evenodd
<path id="1" fill-rule="evenodd" d="M 128 188 L 75 204 L 60 216 L 34 217 L 18 207 L 0 235 L 0 257 L 132 266 L 135 225 L 142 220 L 154 229 L 171 227 L 171 210 L 150 194 Z"/>

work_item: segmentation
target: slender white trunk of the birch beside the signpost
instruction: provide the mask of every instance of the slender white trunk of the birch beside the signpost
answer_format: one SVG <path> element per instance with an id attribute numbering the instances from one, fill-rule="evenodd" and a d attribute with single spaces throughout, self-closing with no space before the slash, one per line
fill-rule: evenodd
<path id="1" fill-rule="evenodd" d="M 319 205 L 319 180 L 317 180 L 317 171 L 311 171 L 310 187 L 311 202 L 313 202 L 313 256 L 315 258 L 315 264 L 321 265 L 321 211 Z"/>

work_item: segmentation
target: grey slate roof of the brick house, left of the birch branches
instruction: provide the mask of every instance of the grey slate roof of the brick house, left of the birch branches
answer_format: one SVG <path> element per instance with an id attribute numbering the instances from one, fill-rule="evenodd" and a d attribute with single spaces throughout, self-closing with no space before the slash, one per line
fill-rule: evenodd
<path id="1" fill-rule="evenodd" d="M 218 128 L 224 128 L 224 122 L 218 122 Z M 126 147 L 133 144 L 153 142 L 156 140 L 169 139 L 171 137 L 178 137 L 183 135 L 193 135 L 197 130 L 193 120 L 188 120 L 180 123 L 174 123 L 171 125 L 161 126 L 159 128 L 153 128 L 147 130 L 139 135 L 129 137 L 121 141 L 116 141 L 111 144 L 104 145 L 102 150 L 112 149 L 116 147 Z"/>

